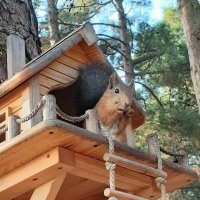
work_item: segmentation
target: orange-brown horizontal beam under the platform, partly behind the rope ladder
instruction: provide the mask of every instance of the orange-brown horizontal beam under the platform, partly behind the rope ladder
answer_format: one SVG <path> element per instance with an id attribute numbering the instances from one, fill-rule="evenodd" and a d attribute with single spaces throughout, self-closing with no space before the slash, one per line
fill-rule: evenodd
<path id="1" fill-rule="evenodd" d="M 69 171 L 69 174 L 108 185 L 109 177 L 105 162 L 75 153 L 75 163 L 75 167 Z M 149 187 L 152 184 L 154 182 L 150 176 L 120 166 L 116 168 L 116 187 L 118 188 L 131 191 L 133 188 Z"/>

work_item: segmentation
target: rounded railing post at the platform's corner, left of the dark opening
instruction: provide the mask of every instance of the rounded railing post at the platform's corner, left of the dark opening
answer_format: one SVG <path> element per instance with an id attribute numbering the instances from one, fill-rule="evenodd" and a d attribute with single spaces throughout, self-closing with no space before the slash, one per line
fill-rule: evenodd
<path id="1" fill-rule="evenodd" d="M 43 108 L 43 120 L 56 119 L 56 98 L 51 95 L 45 95 L 45 104 Z"/>

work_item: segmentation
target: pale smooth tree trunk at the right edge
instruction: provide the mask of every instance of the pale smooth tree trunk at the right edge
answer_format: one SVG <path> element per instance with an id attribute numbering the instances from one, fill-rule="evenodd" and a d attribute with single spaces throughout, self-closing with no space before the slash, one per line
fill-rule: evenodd
<path id="1" fill-rule="evenodd" d="M 198 0 L 178 0 L 178 3 L 200 114 L 200 4 Z"/>

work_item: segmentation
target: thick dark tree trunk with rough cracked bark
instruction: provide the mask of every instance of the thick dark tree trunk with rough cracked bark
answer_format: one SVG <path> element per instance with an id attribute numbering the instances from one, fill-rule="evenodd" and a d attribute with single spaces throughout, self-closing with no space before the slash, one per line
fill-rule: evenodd
<path id="1" fill-rule="evenodd" d="M 0 1 L 0 32 L 15 34 L 25 40 L 27 61 L 41 52 L 37 18 L 31 0 Z"/>

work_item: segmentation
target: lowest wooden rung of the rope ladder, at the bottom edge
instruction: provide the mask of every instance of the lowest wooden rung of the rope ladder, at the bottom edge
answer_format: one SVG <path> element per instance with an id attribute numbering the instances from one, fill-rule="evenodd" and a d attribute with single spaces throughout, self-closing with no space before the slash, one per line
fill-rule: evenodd
<path id="1" fill-rule="evenodd" d="M 138 197 L 133 194 L 128 194 L 126 192 L 118 191 L 118 190 L 113 190 L 110 188 L 106 188 L 104 190 L 104 196 L 106 197 L 117 197 L 117 198 L 122 198 L 122 199 L 127 199 L 127 200 L 147 200 L 146 198 Z"/>

